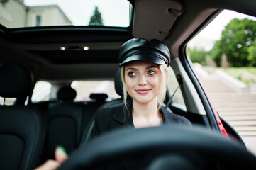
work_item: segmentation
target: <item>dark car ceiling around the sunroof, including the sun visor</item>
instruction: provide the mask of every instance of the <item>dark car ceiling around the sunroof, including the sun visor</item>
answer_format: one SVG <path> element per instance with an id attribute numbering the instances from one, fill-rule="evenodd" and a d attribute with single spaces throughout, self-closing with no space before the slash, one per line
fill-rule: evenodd
<path id="1" fill-rule="evenodd" d="M 256 16 L 254 0 L 130 2 L 135 15 L 132 13 L 128 28 L 55 26 L 8 29 L 1 26 L 0 63 L 23 64 L 35 79 L 41 80 L 109 79 L 114 77 L 118 67 L 119 48 L 130 38 L 157 38 L 167 44 L 172 57 L 179 57 L 189 39 L 224 8 Z M 82 50 L 84 46 L 89 50 Z M 60 47 L 67 50 L 60 50 Z"/>

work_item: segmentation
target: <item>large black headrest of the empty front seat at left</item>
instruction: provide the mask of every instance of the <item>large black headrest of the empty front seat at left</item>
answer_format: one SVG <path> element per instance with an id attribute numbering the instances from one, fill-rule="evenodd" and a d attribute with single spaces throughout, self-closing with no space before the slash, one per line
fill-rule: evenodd
<path id="1" fill-rule="evenodd" d="M 30 72 L 18 64 L 0 67 L 0 96 L 4 98 L 26 98 L 32 92 Z"/>

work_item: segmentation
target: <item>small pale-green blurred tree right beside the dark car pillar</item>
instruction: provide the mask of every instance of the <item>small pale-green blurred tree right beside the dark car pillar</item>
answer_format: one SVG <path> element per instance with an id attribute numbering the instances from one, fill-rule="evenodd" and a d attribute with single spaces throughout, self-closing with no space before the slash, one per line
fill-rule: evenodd
<path id="1" fill-rule="evenodd" d="M 198 62 L 201 65 L 206 65 L 206 56 L 208 54 L 206 51 L 188 47 L 187 54 L 189 55 L 191 62 Z"/>

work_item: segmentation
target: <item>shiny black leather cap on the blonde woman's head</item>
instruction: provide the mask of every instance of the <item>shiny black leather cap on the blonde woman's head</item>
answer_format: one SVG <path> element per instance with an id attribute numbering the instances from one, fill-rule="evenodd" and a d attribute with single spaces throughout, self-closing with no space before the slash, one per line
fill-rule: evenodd
<path id="1" fill-rule="evenodd" d="M 125 42 L 119 52 L 119 66 L 136 60 L 167 64 L 169 66 L 170 54 L 168 47 L 160 40 L 145 40 L 133 38 Z"/>

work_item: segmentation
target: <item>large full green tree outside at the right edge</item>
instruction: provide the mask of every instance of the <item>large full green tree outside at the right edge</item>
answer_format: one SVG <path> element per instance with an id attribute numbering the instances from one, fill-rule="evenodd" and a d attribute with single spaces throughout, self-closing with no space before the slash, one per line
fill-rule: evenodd
<path id="1" fill-rule="evenodd" d="M 226 54 L 231 66 L 247 66 L 250 64 L 247 60 L 248 47 L 254 42 L 255 35 L 256 21 L 235 18 L 222 31 L 221 40 L 216 41 L 211 50 L 211 57 L 218 66 L 221 65 L 223 54 Z"/>

